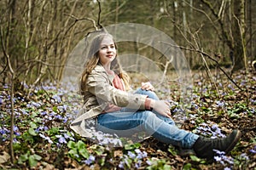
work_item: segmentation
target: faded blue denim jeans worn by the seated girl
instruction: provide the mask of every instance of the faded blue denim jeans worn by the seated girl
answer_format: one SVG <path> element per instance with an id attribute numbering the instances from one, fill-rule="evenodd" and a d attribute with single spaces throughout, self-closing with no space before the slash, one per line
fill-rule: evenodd
<path id="1" fill-rule="evenodd" d="M 139 88 L 136 94 L 148 95 L 158 99 L 152 91 Z M 171 118 L 161 116 L 154 111 L 134 111 L 122 108 L 120 111 L 101 114 L 97 118 L 97 129 L 104 133 L 116 133 L 119 136 L 131 136 L 135 133 L 147 133 L 155 139 L 182 148 L 192 148 L 198 135 L 176 127 Z"/>

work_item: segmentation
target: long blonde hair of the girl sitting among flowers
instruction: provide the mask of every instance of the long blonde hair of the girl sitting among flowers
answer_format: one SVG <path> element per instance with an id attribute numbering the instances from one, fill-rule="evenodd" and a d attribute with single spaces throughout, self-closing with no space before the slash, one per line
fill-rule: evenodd
<path id="1" fill-rule="evenodd" d="M 84 92 L 87 91 L 86 81 L 88 76 L 90 75 L 90 72 L 96 67 L 96 65 L 100 64 L 99 49 L 102 39 L 106 36 L 112 37 L 108 33 L 101 33 L 94 37 L 90 44 L 87 56 L 84 56 L 86 58 L 86 61 L 84 64 L 84 71 L 82 72 L 82 75 L 80 77 L 80 94 L 82 95 L 84 94 Z M 114 45 L 117 49 L 115 42 Z M 125 89 L 130 89 L 130 77 L 125 71 L 123 71 L 121 65 L 119 64 L 119 59 L 117 55 L 115 59 L 113 59 L 113 61 L 111 62 L 110 69 L 113 70 L 115 74 L 117 74 L 123 80 L 123 82 L 125 83 Z"/>

